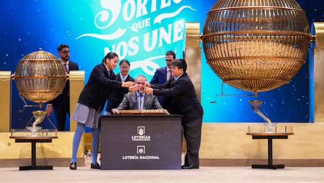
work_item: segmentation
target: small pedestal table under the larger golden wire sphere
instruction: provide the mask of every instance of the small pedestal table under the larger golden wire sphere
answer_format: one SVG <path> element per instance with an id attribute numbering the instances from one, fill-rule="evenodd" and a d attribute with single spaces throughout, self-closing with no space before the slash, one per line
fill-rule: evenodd
<path id="1" fill-rule="evenodd" d="M 252 139 L 268 139 L 268 164 L 252 164 L 253 169 L 284 169 L 284 164 L 273 164 L 272 161 L 272 139 L 288 139 L 288 135 L 294 135 L 294 133 L 246 133 L 251 135 Z"/>

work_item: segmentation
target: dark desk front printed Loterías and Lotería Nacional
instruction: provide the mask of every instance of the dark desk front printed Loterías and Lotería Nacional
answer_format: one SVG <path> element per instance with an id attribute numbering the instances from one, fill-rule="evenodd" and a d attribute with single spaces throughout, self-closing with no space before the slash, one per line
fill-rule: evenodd
<path id="1" fill-rule="evenodd" d="M 101 170 L 181 169 L 181 117 L 101 116 Z"/>

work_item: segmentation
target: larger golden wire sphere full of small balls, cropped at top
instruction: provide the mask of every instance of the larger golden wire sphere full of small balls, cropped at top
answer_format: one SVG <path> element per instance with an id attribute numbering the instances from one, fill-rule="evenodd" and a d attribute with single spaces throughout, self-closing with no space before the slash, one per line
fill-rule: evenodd
<path id="1" fill-rule="evenodd" d="M 223 83 L 257 94 L 290 82 L 305 63 L 311 35 L 294 0 L 218 0 L 201 39 Z"/>

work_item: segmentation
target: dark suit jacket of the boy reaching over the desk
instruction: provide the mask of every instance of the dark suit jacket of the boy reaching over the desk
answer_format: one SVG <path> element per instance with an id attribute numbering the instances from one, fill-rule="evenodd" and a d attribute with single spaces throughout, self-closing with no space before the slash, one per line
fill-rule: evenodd
<path id="1" fill-rule="evenodd" d="M 191 122 L 203 117 L 203 107 L 186 72 L 178 78 L 177 82 L 171 78 L 164 84 L 152 84 L 151 87 L 155 88 L 153 95 L 173 97 L 175 111 L 183 115 L 183 122 Z"/>

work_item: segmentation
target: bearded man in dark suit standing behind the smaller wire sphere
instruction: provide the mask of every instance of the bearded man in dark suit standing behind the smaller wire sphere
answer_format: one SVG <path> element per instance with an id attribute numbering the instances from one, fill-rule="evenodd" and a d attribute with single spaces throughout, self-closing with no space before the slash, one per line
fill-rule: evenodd
<path id="1" fill-rule="evenodd" d="M 70 50 L 67 44 L 61 44 L 58 46 L 58 54 L 60 56 L 61 63 L 65 68 L 66 74 L 69 74 L 70 70 L 79 70 L 78 64 L 69 60 Z M 48 101 L 46 105 L 45 110 L 48 116 L 54 111 L 58 131 L 65 131 L 66 114 L 70 116 L 69 90 L 69 80 L 66 80 L 62 94 L 60 94 L 57 98 Z"/>

